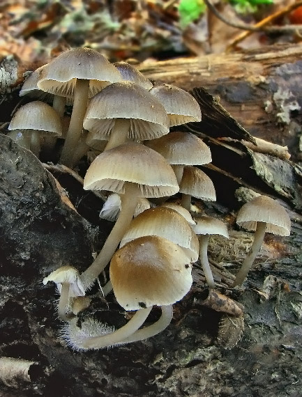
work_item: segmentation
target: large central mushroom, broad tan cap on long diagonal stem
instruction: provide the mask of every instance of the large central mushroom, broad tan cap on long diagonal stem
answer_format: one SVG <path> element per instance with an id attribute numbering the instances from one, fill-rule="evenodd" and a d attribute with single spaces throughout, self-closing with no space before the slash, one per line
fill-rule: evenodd
<path id="1" fill-rule="evenodd" d="M 121 212 L 103 249 L 82 274 L 88 288 L 110 262 L 128 228 L 141 197 L 161 197 L 179 190 L 172 168 L 164 157 L 139 143 L 130 142 L 106 150 L 93 160 L 84 178 L 85 190 L 109 190 L 121 194 Z"/>

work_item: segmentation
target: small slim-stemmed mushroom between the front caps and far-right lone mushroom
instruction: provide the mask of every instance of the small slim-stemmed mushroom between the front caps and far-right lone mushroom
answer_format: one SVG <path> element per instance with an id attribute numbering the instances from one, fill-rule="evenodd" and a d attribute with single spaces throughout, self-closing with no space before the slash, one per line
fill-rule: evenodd
<path id="1" fill-rule="evenodd" d="M 213 217 L 195 218 L 196 225 L 192 226 L 193 231 L 199 235 L 199 260 L 204 270 L 204 277 L 210 288 L 215 288 L 215 281 L 211 272 L 211 267 L 208 259 L 208 244 L 210 235 L 223 235 L 229 238 L 227 226 L 219 219 Z"/>

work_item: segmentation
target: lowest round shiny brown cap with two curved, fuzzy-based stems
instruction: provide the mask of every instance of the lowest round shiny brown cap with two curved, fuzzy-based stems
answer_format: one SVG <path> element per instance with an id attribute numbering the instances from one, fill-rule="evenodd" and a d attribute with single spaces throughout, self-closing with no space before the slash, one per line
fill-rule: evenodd
<path id="1" fill-rule="evenodd" d="M 100 336 L 97 332 L 83 335 L 75 321 L 70 322 L 64 332 L 68 344 L 76 350 L 100 349 L 162 332 L 172 320 L 172 305 L 190 290 L 191 270 L 186 253 L 165 238 L 145 236 L 128 242 L 112 257 L 110 279 L 117 302 L 126 311 L 136 311 L 135 315 L 114 332 L 100 325 Z M 161 307 L 162 316 L 153 325 L 139 329 L 155 305 Z"/>

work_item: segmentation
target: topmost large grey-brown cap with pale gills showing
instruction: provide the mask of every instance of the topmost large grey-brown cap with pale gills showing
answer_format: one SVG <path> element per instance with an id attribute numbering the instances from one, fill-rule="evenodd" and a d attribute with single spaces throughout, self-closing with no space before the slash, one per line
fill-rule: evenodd
<path id="1" fill-rule="evenodd" d="M 47 93 L 73 97 L 77 79 L 90 80 L 89 97 L 121 80 L 119 70 L 105 56 L 89 48 L 63 52 L 40 70 L 38 88 Z"/>

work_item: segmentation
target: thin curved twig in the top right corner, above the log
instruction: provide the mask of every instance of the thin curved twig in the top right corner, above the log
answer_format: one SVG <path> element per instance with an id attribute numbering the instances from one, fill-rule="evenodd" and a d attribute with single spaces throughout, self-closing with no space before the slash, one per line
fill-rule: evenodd
<path id="1" fill-rule="evenodd" d="M 269 22 L 271 22 L 271 19 L 268 20 L 268 18 L 266 18 L 262 24 L 260 24 L 260 22 L 258 24 L 255 25 L 249 25 L 249 24 L 242 24 L 242 23 L 237 23 L 237 22 L 232 22 L 227 20 L 227 18 L 225 18 L 222 14 L 220 14 L 220 12 L 217 10 L 217 8 L 215 6 L 213 6 L 213 4 L 211 3 L 210 0 L 204 0 L 204 3 L 206 4 L 206 6 L 209 8 L 209 10 L 211 10 L 211 12 L 222 22 L 224 22 L 225 24 L 232 26 L 234 28 L 237 29 L 242 29 L 245 31 L 252 31 L 252 32 L 259 32 L 259 31 L 265 31 L 266 33 L 278 33 L 278 32 L 284 32 L 284 31 L 299 31 L 299 29 L 302 29 L 302 25 L 285 25 L 285 26 L 266 26 L 266 24 L 268 24 Z M 298 6 L 302 5 L 302 1 L 299 1 L 298 3 L 294 4 L 294 8 Z M 288 7 L 288 13 L 294 9 L 293 6 Z M 282 15 L 284 15 L 284 13 L 282 13 Z M 276 18 L 276 17 L 275 17 Z"/>

